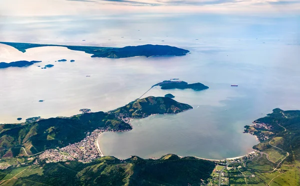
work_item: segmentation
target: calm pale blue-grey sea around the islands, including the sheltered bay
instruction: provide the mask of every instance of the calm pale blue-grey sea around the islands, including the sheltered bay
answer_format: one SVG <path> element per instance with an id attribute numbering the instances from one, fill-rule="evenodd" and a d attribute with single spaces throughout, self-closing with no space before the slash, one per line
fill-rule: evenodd
<path id="1" fill-rule="evenodd" d="M 80 108 L 108 111 L 159 81 L 180 78 L 209 89 L 155 87 L 144 96 L 172 93 L 193 109 L 133 119 L 130 131 L 102 133 L 98 142 L 104 155 L 146 158 L 176 153 L 212 159 L 243 155 L 257 144 L 254 136 L 242 133 L 244 125 L 276 107 L 300 109 L 300 29 L 294 24 L 298 20 L 208 14 L 1 19 L 1 41 L 116 47 L 168 44 L 190 53 L 109 59 L 64 47 L 22 53 L 0 44 L 0 61 L 42 60 L 28 67 L 0 69 L 0 123 L 20 122 L 17 117 L 70 116 L 80 113 Z M 62 58 L 68 61 L 55 62 Z M 54 66 L 37 67 L 45 64 Z"/>

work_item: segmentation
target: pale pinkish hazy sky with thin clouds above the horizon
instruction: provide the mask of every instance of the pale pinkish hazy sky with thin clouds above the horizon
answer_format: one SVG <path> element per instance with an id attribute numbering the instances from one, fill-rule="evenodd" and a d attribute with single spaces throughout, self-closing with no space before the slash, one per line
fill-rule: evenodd
<path id="1" fill-rule="evenodd" d="M 300 0 L 0 0 L 0 16 L 208 12 L 299 15 Z"/>

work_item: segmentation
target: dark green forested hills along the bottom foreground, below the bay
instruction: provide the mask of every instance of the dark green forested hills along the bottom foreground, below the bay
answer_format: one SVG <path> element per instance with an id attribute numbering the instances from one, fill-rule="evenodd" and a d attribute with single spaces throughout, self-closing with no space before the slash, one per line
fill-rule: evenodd
<path id="1" fill-rule="evenodd" d="M 199 185 L 214 163 L 167 154 L 160 159 L 137 156 L 125 160 L 105 156 L 90 163 L 76 161 L 32 165 L 10 180 L 13 185 Z M 21 169 L 19 170 L 21 171 Z M 18 172 L 19 172 L 18 171 Z M 4 177 L 11 169 L 1 170 Z"/>

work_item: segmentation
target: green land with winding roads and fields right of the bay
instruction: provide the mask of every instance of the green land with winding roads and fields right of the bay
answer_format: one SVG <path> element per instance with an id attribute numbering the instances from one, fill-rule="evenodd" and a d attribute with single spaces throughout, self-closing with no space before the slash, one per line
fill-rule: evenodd
<path id="1" fill-rule="evenodd" d="M 253 146 L 260 153 L 245 167 L 229 171 L 231 185 L 300 185 L 300 110 L 273 109 L 267 116 L 246 125 L 245 132 L 259 137 Z M 245 182 L 245 180 L 247 182 Z"/>

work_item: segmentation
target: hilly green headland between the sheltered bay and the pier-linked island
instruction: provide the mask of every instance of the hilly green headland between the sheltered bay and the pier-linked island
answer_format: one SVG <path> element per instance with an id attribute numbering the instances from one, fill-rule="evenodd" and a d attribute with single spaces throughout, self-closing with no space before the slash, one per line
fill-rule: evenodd
<path id="1" fill-rule="evenodd" d="M 168 97 L 148 96 L 111 110 L 117 117 L 142 118 L 151 114 L 179 113 L 192 107 Z"/>

